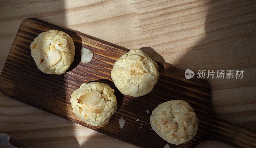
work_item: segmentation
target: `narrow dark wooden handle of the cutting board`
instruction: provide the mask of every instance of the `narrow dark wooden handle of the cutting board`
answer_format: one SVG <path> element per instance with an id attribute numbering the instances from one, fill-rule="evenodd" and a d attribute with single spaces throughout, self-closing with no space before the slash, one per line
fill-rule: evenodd
<path id="1" fill-rule="evenodd" d="M 256 131 L 244 128 L 223 119 L 217 120 L 213 131 L 216 133 L 209 134 L 208 137 L 227 143 L 234 147 L 255 148 L 256 147 Z"/>

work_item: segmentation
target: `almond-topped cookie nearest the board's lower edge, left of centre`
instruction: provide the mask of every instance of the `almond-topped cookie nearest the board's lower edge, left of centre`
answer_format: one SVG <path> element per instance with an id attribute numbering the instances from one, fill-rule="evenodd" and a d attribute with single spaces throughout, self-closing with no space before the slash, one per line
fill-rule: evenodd
<path id="1" fill-rule="evenodd" d="M 93 126 L 105 126 L 116 112 L 114 89 L 99 82 L 83 83 L 70 99 L 73 112 L 82 121 Z"/>

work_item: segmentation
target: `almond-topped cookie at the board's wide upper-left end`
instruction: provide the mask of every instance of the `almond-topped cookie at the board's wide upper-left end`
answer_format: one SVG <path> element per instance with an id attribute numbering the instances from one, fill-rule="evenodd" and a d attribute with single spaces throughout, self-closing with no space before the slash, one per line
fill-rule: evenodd
<path id="1" fill-rule="evenodd" d="M 40 33 L 30 44 L 31 56 L 39 70 L 60 75 L 74 61 L 75 45 L 72 38 L 62 31 Z"/>

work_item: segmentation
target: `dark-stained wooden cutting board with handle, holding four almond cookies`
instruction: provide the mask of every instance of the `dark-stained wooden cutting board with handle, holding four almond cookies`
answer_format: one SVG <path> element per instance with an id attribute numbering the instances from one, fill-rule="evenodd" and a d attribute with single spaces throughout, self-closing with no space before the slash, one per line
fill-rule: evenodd
<path id="1" fill-rule="evenodd" d="M 75 60 L 62 75 L 48 75 L 38 70 L 30 52 L 30 43 L 34 38 L 51 29 L 68 33 L 76 47 Z M 80 63 L 82 47 L 92 50 L 90 63 Z M 21 23 L 5 62 L 0 75 L 0 90 L 15 100 L 143 148 L 163 148 L 167 144 L 154 130 L 150 130 L 149 117 L 160 103 L 180 99 L 194 108 L 199 128 L 190 141 L 180 145 L 169 144 L 172 148 L 195 147 L 209 139 L 235 147 L 256 147 L 256 131 L 226 122 L 214 112 L 210 85 L 206 80 L 196 79 L 196 76 L 188 80 L 184 70 L 171 64 L 157 62 L 160 77 L 151 93 L 140 97 L 122 95 L 112 82 L 110 72 L 115 61 L 126 52 L 88 35 L 28 18 Z M 106 83 L 115 89 L 117 111 L 105 127 L 88 126 L 74 115 L 71 108 L 69 99 L 72 92 L 82 83 L 91 81 Z M 121 116 L 126 121 L 123 129 L 120 129 L 118 122 Z M 140 121 L 136 122 L 137 118 Z"/>

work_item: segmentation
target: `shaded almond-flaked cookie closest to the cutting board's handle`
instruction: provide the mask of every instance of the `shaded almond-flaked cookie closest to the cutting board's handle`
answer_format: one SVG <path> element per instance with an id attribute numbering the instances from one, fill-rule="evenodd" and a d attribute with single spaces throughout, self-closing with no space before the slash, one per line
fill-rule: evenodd
<path id="1" fill-rule="evenodd" d="M 182 144 L 196 135 L 198 118 L 182 100 L 171 100 L 156 107 L 150 116 L 152 129 L 171 144 Z"/>

